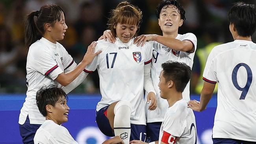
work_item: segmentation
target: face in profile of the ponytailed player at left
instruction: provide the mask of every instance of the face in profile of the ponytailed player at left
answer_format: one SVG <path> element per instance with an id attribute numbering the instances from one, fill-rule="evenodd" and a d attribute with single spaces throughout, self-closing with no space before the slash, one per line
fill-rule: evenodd
<path id="1" fill-rule="evenodd" d="M 50 35 L 51 35 L 51 38 L 52 38 L 52 41 L 59 41 L 59 40 L 63 40 L 64 39 L 64 36 L 65 36 L 65 32 L 67 30 L 67 25 L 65 23 L 65 17 L 64 17 L 64 14 L 62 12 L 62 17 L 61 17 L 61 20 L 58 21 L 56 20 L 56 22 L 54 23 L 53 26 L 50 26 Z"/>

